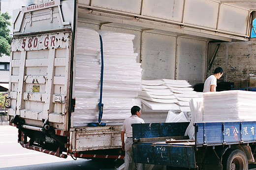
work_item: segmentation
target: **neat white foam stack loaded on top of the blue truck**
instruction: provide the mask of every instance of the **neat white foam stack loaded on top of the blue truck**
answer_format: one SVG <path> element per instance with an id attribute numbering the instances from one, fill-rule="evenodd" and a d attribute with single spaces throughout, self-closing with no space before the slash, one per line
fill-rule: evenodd
<path id="1" fill-rule="evenodd" d="M 256 93 L 250 91 L 223 91 L 203 93 L 193 99 L 192 120 L 185 136 L 194 139 L 195 122 L 256 121 Z"/>

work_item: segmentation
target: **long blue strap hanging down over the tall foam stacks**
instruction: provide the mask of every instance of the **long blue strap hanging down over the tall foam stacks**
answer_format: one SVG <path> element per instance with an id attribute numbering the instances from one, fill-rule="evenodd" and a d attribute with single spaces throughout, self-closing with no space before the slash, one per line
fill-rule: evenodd
<path id="1" fill-rule="evenodd" d="M 103 103 L 102 102 L 102 86 L 103 86 L 103 44 L 102 44 L 102 38 L 99 35 L 99 40 L 100 40 L 100 54 L 101 54 L 101 73 L 100 73 L 100 95 L 99 95 L 99 103 L 98 103 L 98 124 L 100 125 L 101 123 L 101 118 L 103 115 Z"/>

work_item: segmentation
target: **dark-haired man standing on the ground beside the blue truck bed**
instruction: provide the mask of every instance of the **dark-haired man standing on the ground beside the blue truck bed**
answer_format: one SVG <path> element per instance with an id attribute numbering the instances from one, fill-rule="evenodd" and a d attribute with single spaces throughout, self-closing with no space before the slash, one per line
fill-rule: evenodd
<path id="1" fill-rule="evenodd" d="M 135 164 L 133 163 L 133 154 L 132 154 L 132 123 L 144 123 L 141 116 L 141 109 L 139 106 L 133 106 L 130 109 L 131 116 L 124 121 L 121 140 L 122 140 L 122 149 L 125 151 L 125 170 L 134 170 L 136 169 Z M 126 133 L 126 143 L 125 143 L 125 133 Z M 138 170 L 143 169 L 143 164 L 137 165 Z"/>

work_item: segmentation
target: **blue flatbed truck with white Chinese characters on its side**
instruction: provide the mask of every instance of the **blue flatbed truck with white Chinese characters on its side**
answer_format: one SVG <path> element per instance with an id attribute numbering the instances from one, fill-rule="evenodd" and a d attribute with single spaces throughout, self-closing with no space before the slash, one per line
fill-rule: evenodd
<path id="1" fill-rule="evenodd" d="M 256 121 L 194 123 L 194 140 L 184 136 L 188 125 L 132 124 L 134 162 L 167 170 L 248 170 L 255 163 Z"/>

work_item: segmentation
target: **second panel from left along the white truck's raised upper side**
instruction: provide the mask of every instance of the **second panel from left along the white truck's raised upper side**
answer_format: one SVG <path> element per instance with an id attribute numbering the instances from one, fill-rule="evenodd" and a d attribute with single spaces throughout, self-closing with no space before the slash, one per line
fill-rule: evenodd
<path id="1" fill-rule="evenodd" d="M 182 22 L 183 0 L 145 0 L 142 15 Z"/>

